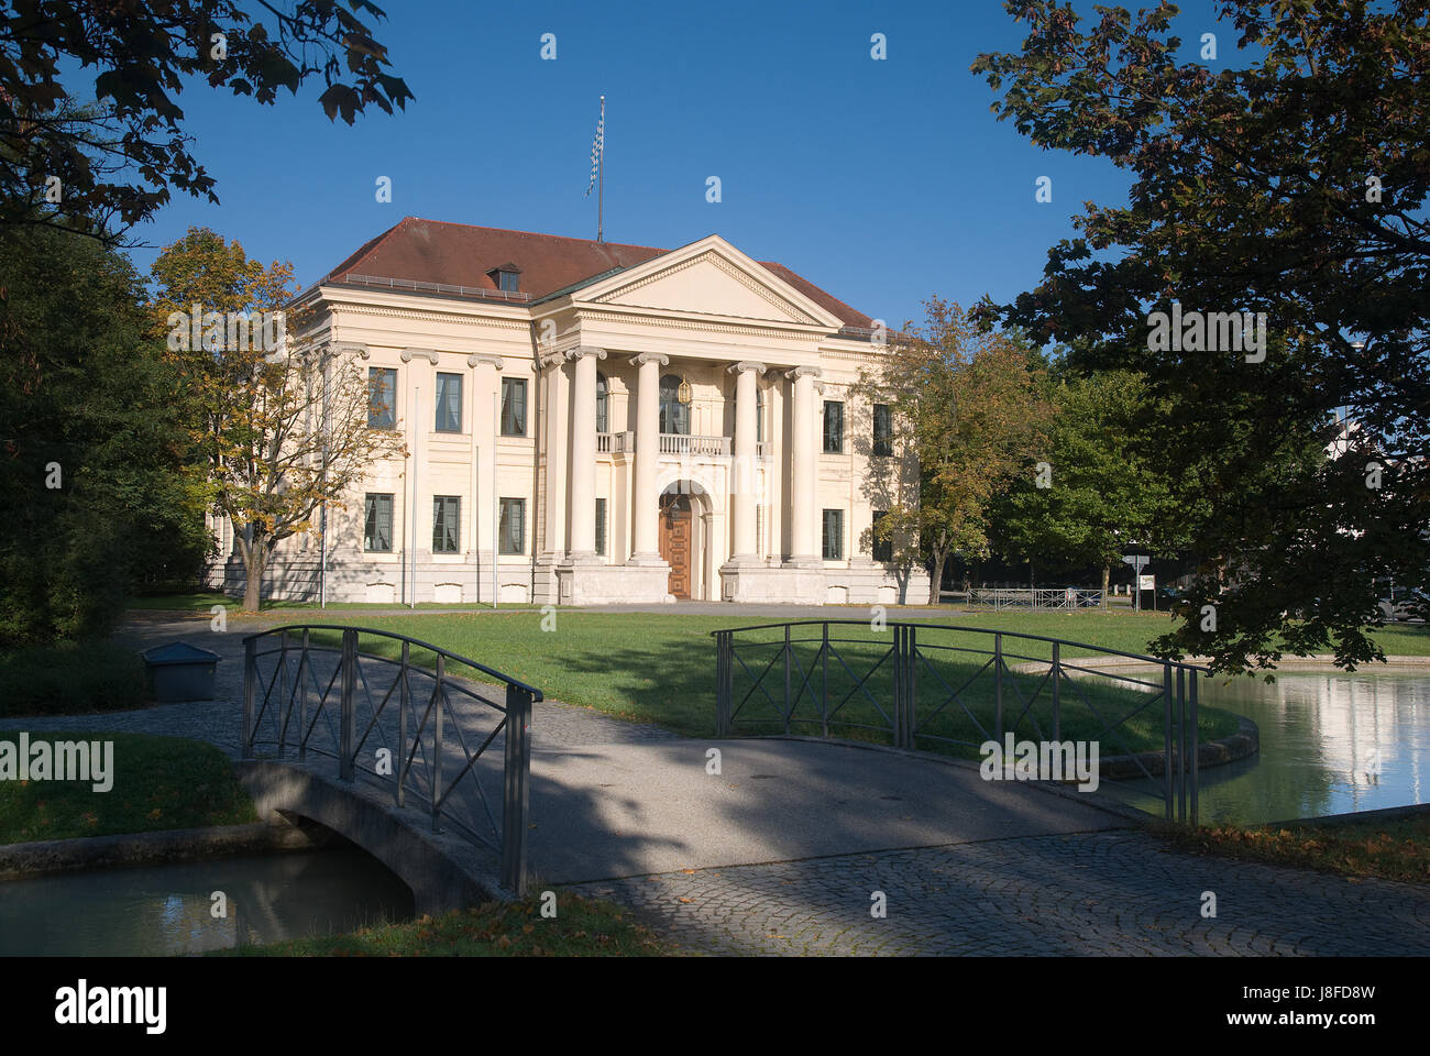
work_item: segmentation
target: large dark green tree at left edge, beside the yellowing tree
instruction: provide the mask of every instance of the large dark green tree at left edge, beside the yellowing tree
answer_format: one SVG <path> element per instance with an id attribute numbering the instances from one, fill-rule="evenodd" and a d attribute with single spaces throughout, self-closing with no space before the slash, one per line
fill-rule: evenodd
<path id="1" fill-rule="evenodd" d="M 176 393 L 129 260 L 0 230 L 0 644 L 103 635 L 137 582 L 203 567 Z"/>

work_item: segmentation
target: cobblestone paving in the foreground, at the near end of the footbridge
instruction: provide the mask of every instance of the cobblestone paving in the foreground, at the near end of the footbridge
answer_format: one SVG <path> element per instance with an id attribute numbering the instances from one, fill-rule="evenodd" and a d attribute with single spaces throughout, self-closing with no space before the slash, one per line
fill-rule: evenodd
<path id="1" fill-rule="evenodd" d="M 1181 854 L 1135 830 L 563 890 L 622 901 L 684 950 L 716 954 L 1430 954 L 1430 889 Z M 1201 916 L 1204 891 L 1216 919 Z"/>

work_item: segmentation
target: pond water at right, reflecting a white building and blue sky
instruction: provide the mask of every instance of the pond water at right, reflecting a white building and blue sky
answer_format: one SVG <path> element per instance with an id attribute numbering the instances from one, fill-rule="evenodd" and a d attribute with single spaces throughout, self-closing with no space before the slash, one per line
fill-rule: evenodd
<path id="1" fill-rule="evenodd" d="M 1200 700 L 1247 715 L 1261 751 L 1201 771 L 1201 823 L 1254 824 L 1430 803 L 1430 673 L 1306 670 L 1204 678 Z M 1145 781 L 1134 806 L 1163 813 Z"/>

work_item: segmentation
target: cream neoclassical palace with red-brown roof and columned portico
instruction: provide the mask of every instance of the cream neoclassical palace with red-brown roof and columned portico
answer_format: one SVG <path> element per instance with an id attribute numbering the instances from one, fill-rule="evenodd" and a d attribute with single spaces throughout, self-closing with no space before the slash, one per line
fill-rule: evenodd
<path id="1" fill-rule="evenodd" d="M 914 501 L 877 322 L 718 235 L 652 249 L 408 217 L 306 295 L 400 431 L 285 541 L 265 594 L 329 601 L 922 601 L 871 531 Z M 213 582 L 237 592 L 229 524 Z M 323 568 L 326 561 L 326 569 Z"/>

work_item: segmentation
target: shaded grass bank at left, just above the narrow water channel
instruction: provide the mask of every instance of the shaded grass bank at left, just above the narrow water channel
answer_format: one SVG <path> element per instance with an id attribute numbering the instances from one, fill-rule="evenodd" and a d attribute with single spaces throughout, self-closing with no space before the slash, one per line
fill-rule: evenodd
<path id="1" fill-rule="evenodd" d="M 33 731 L 36 740 L 113 741 L 109 791 L 82 781 L 0 781 L 0 843 L 150 833 L 257 821 L 253 803 L 212 744 L 107 731 Z M 17 730 L 0 741 L 19 743 Z"/>

